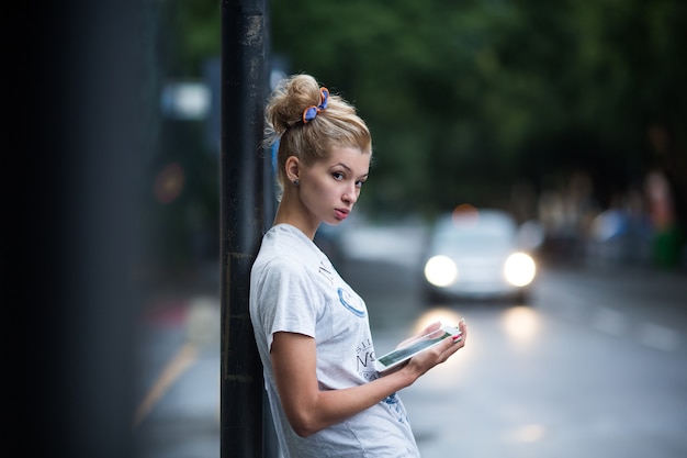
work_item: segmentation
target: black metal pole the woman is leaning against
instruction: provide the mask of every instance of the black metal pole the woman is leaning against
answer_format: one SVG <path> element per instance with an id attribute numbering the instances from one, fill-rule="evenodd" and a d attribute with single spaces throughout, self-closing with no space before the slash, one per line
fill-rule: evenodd
<path id="1" fill-rule="evenodd" d="M 248 313 L 263 227 L 264 1 L 222 1 L 221 456 L 262 457 L 262 367 Z"/>

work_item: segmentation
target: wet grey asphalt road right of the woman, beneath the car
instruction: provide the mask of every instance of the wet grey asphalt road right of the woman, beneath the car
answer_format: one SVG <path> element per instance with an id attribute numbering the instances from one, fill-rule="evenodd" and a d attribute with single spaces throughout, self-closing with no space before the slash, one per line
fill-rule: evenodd
<path id="1" fill-rule="evenodd" d="M 381 261 L 361 248 L 345 270 L 378 353 L 428 315 L 470 326 L 454 359 L 401 393 L 423 456 L 687 456 L 684 272 L 541 266 L 530 303 L 430 305 L 413 238 L 395 237 L 405 253 Z"/>

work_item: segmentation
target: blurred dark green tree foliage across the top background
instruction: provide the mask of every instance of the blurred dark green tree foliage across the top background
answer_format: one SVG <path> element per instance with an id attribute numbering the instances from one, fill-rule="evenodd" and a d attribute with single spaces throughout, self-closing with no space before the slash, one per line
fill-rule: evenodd
<path id="1" fill-rule="evenodd" d="M 687 200 L 682 0 L 266 4 L 288 71 L 341 93 L 372 130 L 363 205 L 492 204 L 515 183 L 541 190 L 543 177 L 578 169 L 622 190 L 651 165 L 674 170 Z M 221 4 L 173 0 L 165 11 L 179 68 L 193 75 L 219 53 Z M 661 156 L 647 141 L 655 127 L 669 133 Z"/>

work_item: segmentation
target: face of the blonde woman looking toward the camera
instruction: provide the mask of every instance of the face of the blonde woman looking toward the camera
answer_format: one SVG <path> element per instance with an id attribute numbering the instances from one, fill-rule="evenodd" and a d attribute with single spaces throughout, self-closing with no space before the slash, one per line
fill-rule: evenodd
<path id="1" fill-rule="evenodd" d="M 329 225 L 346 220 L 369 171 L 370 154 L 351 147 L 335 147 L 329 158 L 303 167 L 300 196 L 311 219 Z"/>

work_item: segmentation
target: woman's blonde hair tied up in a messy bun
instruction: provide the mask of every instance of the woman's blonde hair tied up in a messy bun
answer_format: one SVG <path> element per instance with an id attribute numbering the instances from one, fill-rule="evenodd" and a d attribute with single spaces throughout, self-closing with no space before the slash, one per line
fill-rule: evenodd
<path id="1" fill-rule="evenodd" d="M 304 111 L 322 101 L 320 86 L 309 75 L 294 75 L 280 82 L 268 100 L 266 144 L 279 142 L 277 179 L 280 192 L 286 183 L 286 159 L 295 156 L 304 165 L 328 157 L 333 147 L 359 148 L 372 154 L 372 137 L 356 109 L 341 97 L 330 94 L 326 109 L 304 122 Z"/>

